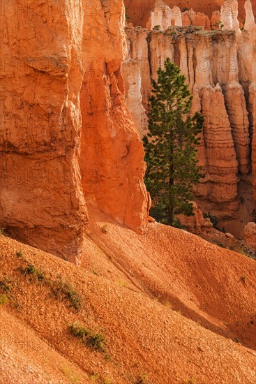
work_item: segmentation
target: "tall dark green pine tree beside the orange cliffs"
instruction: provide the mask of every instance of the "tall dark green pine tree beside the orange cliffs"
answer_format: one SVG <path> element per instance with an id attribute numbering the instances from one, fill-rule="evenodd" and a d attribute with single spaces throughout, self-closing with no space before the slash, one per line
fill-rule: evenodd
<path id="1" fill-rule="evenodd" d="M 153 199 L 153 216 L 170 226 L 174 214 L 193 215 L 193 185 L 204 175 L 197 166 L 198 135 L 204 118 L 188 116 L 193 96 L 186 77 L 169 58 L 158 69 L 150 97 L 149 134 L 144 136 L 146 188 Z"/>

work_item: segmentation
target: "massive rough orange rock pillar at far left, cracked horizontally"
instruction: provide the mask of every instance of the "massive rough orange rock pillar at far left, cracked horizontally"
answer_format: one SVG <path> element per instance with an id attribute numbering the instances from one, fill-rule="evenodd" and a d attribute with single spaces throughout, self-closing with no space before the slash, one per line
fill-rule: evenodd
<path id="1" fill-rule="evenodd" d="M 1 227 L 73 260 L 87 221 L 80 187 L 82 7 L 1 9 Z"/>

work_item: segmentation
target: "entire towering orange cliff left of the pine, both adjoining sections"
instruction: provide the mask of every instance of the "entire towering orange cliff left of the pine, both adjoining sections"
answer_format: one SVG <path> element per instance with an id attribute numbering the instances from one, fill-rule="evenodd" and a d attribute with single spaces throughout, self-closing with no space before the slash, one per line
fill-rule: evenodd
<path id="1" fill-rule="evenodd" d="M 138 232 L 146 221 L 120 74 L 124 20 L 119 0 L 1 4 L 0 226 L 69 260 L 86 200 Z"/>

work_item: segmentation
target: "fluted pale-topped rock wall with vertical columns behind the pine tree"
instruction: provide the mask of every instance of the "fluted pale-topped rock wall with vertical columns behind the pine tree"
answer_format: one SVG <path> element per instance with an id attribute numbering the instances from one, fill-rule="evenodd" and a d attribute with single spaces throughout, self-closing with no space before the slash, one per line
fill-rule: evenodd
<path id="1" fill-rule="evenodd" d="M 247 7 L 251 21 L 247 15 L 248 30 L 239 29 L 238 34 L 199 27 L 193 27 L 193 33 L 179 27 L 127 30 L 128 58 L 141 61 L 140 96 L 145 110 L 151 78 L 156 79 L 156 70 L 166 57 L 186 75 L 194 96 L 193 112 L 202 112 L 205 119 L 198 158 L 206 178 L 195 191 L 197 204 L 203 212 L 217 216 L 220 228 L 238 237 L 244 224 L 253 219 L 255 209 L 255 70 L 251 64 L 255 62 L 255 43 L 249 31 L 255 22 Z M 147 67 L 149 71 L 144 72 Z"/>

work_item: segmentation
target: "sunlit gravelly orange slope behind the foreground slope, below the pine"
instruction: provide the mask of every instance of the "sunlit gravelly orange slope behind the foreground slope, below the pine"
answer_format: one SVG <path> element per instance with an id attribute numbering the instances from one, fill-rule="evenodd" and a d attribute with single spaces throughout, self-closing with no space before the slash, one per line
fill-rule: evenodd
<path id="1" fill-rule="evenodd" d="M 89 212 L 93 224 L 82 265 L 256 348 L 255 260 L 159 223 L 138 236 L 91 207 Z"/>

